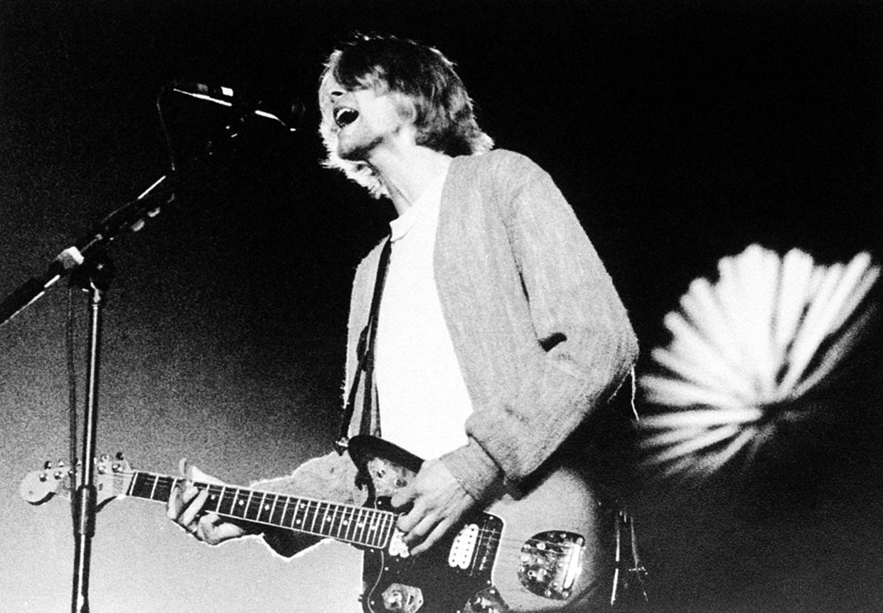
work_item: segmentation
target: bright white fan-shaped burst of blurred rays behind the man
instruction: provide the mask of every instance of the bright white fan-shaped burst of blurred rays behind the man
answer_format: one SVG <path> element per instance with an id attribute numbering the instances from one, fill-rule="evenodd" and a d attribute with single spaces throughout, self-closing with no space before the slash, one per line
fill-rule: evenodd
<path id="1" fill-rule="evenodd" d="M 824 403 L 807 397 L 834 380 L 876 314 L 869 254 L 824 266 L 751 245 L 718 271 L 665 316 L 658 372 L 638 379 L 652 409 L 639 422 L 645 464 L 666 476 L 705 478 L 743 450 L 750 463 L 777 423 L 811 417 Z"/>

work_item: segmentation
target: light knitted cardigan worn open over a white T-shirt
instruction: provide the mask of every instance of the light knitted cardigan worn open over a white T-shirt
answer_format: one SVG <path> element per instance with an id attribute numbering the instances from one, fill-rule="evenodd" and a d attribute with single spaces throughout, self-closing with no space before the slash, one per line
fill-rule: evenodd
<path id="1" fill-rule="evenodd" d="M 346 388 L 380 251 L 366 256 L 353 281 Z M 524 155 L 497 149 L 453 160 L 434 269 L 473 406 L 468 443 L 442 461 L 481 500 L 501 478 L 517 487 L 603 405 L 630 373 L 638 343 L 570 205 Z M 357 394 L 351 434 L 364 390 Z"/>

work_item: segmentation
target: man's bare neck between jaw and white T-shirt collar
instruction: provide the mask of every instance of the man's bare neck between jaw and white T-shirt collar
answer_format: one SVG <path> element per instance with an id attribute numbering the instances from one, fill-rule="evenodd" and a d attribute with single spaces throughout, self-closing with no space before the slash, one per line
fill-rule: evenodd
<path id="1" fill-rule="evenodd" d="M 406 131 L 410 132 L 410 131 Z M 417 145 L 413 134 L 401 134 L 377 148 L 369 163 L 380 175 L 401 216 L 426 191 L 426 186 L 448 170 L 451 157 Z"/>

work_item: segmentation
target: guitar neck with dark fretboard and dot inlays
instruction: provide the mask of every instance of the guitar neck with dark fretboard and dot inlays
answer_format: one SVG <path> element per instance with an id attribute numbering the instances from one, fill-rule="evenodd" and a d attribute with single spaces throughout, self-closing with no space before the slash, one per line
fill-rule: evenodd
<path id="1" fill-rule="evenodd" d="M 120 475 L 122 476 L 122 475 Z M 171 490 L 185 480 L 165 474 L 129 473 L 126 496 L 168 502 Z M 255 489 L 193 482 L 208 489 L 205 511 L 265 526 L 313 534 L 372 549 L 385 549 L 396 527 L 396 514 L 353 504 L 331 503 Z"/>

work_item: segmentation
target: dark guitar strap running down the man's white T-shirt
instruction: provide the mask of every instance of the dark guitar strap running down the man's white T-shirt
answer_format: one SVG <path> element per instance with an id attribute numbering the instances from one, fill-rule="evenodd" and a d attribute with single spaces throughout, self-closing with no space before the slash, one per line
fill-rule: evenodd
<path id="1" fill-rule="evenodd" d="M 374 297 L 371 299 L 371 309 L 368 312 L 368 322 L 361 334 L 358 335 L 356 356 L 358 363 L 356 372 L 352 376 L 350 393 L 346 398 L 346 407 L 343 409 L 343 420 L 340 424 L 340 432 L 335 443 L 337 453 L 343 455 L 350 442 L 350 424 L 352 415 L 356 412 L 356 396 L 358 383 L 362 373 L 365 374 L 365 393 L 362 397 L 362 418 L 359 420 L 358 434 L 380 435 L 380 413 L 376 415 L 376 432 L 371 432 L 371 420 L 374 417 L 376 403 L 374 402 L 374 342 L 377 337 L 377 320 L 381 310 L 381 295 L 383 284 L 386 281 L 386 273 L 389 268 L 389 252 L 392 250 L 392 240 L 387 238 L 381 249 L 380 261 L 377 262 L 377 279 L 374 281 Z"/>

